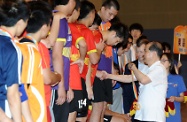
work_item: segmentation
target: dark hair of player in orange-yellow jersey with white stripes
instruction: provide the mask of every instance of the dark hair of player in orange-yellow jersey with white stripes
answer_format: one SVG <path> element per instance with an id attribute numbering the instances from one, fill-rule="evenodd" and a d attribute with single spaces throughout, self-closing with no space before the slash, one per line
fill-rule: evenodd
<path id="1" fill-rule="evenodd" d="M 50 5 L 44 1 L 28 2 L 31 15 L 28 20 L 26 31 L 28 33 L 37 32 L 44 24 L 49 25 L 52 18 Z M 41 7 L 42 6 L 42 7 Z"/>

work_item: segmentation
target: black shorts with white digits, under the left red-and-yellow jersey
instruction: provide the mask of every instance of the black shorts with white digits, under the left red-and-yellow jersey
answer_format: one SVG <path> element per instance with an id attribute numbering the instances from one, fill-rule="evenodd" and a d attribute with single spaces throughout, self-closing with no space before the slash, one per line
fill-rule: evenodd
<path id="1" fill-rule="evenodd" d="M 82 101 L 84 101 L 83 99 L 83 91 L 82 90 L 73 90 L 74 92 L 74 98 L 73 100 L 70 102 L 70 106 L 69 106 L 69 112 L 81 112 L 83 109 L 83 105 L 81 103 L 83 103 Z"/>

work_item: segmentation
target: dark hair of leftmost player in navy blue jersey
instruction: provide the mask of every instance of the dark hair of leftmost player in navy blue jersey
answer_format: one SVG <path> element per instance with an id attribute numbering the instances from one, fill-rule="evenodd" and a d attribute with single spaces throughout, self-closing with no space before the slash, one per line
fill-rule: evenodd
<path id="1" fill-rule="evenodd" d="M 4 1 L 0 5 L 0 25 L 14 26 L 19 20 L 29 18 L 28 6 L 25 2 Z"/>

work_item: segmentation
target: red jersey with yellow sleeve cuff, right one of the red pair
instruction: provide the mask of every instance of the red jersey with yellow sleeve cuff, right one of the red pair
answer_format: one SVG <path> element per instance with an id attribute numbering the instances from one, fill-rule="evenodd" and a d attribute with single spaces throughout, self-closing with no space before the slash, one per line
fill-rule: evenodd
<path id="1" fill-rule="evenodd" d="M 81 77 L 86 79 L 86 74 L 88 71 L 88 64 L 89 64 L 89 54 L 97 52 L 97 49 L 94 43 L 94 35 L 92 31 L 83 24 L 76 24 L 76 27 L 81 32 L 87 45 L 87 54 L 84 60 L 84 69 L 81 74 Z"/>

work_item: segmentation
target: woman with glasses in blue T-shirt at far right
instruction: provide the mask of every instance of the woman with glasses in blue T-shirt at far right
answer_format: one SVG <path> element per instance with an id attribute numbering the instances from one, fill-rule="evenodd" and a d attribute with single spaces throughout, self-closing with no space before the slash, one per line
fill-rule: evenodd
<path id="1" fill-rule="evenodd" d="M 174 102 L 174 109 L 171 109 L 175 111 L 174 113 L 172 113 L 172 115 L 168 115 L 169 117 L 166 117 L 166 122 L 182 122 L 180 103 L 184 102 L 184 92 L 186 91 L 186 86 L 184 84 L 182 76 L 175 73 L 173 61 L 174 60 L 171 53 L 164 53 L 161 57 L 161 63 L 166 68 L 168 75 L 166 103 Z"/>

